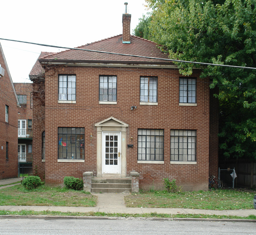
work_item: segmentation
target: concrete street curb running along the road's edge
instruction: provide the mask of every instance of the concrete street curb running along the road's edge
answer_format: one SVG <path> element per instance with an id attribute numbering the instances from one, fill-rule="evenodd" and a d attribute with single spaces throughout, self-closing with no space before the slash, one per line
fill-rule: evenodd
<path id="1" fill-rule="evenodd" d="M 111 216 L 59 216 L 59 215 L 0 215 L 0 219 L 87 219 L 87 220 L 145 220 L 145 221 L 202 221 L 256 223 L 254 219 L 210 219 L 210 218 L 159 218 L 159 217 L 111 217 Z"/>

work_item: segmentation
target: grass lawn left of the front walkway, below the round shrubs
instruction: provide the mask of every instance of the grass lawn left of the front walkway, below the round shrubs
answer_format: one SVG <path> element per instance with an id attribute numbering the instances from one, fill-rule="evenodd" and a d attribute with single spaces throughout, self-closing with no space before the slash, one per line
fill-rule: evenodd
<path id="1" fill-rule="evenodd" d="M 0 206 L 96 206 L 97 198 L 85 191 L 42 185 L 26 190 L 21 184 L 1 189 Z"/>

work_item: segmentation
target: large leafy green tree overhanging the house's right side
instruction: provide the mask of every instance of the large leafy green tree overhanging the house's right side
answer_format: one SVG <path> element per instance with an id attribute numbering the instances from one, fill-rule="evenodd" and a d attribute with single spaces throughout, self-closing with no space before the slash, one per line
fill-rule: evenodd
<path id="1" fill-rule="evenodd" d="M 140 21 L 139 26 L 148 27 L 143 37 L 163 45 L 170 58 L 256 67 L 256 0 L 146 1 L 152 19 Z M 200 67 L 175 64 L 185 76 Z M 200 77 L 211 77 L 210 87 L 219 87 L 222 154 L 256 159 L 256 70 L 201 67 Z"/>

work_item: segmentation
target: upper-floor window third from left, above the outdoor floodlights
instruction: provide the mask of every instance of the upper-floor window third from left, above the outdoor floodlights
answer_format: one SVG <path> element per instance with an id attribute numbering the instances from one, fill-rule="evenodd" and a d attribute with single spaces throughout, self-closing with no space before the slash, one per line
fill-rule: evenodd
<path id="1" fill-rule="evenodd" d="M 140 102 L 157 102 L 157 77 L 140 77 Z"/>

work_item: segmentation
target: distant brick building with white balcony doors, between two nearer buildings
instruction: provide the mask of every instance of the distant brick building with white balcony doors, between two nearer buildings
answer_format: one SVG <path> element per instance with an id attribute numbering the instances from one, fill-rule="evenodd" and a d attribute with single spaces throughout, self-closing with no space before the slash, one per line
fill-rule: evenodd
<path id="1" fill-rule="evenodd" d="M 18 110 L 18 158 L 20 173 L 32 173 L 32 83 L 13 83 L 21 107 Z M 31 172 L 29 168 L 31 165 Z"/>

